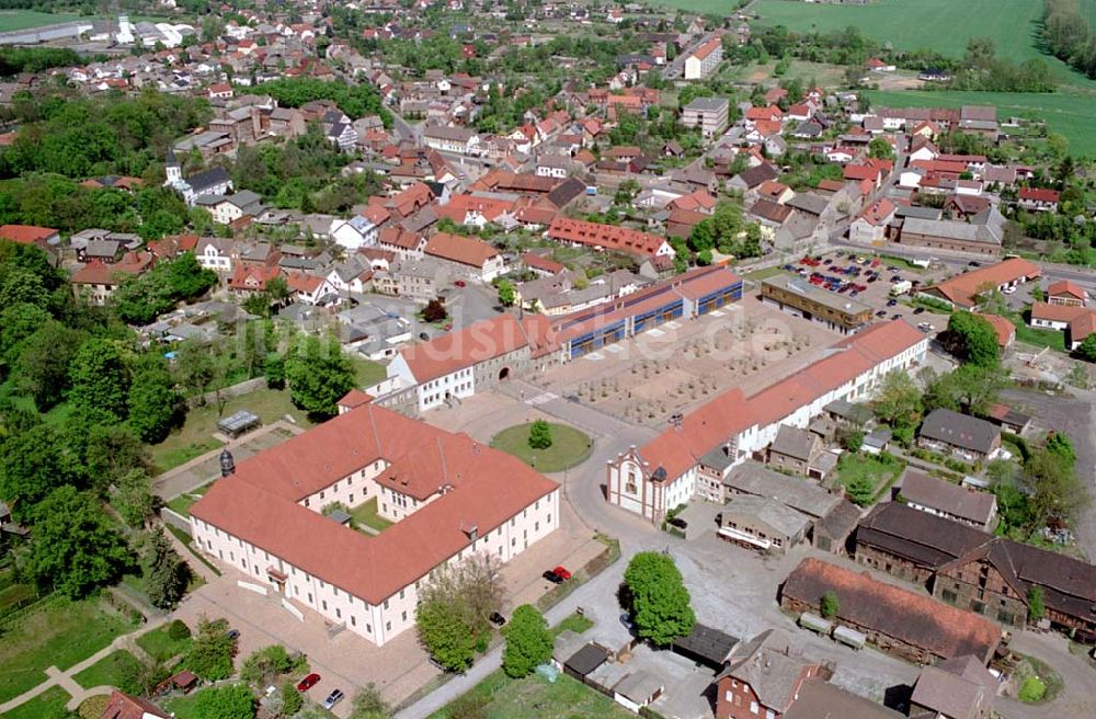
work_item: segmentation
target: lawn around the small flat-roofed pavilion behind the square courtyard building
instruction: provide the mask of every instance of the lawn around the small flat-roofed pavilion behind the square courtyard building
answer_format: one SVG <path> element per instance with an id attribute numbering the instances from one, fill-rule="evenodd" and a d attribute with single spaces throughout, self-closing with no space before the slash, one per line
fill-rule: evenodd
<path id="1" fill-rule="evenodd" d="M 247 395 L 232 397 L 225 402 L 225 411 L 217 413 L 217 403 L 195 407 L 186 413 L 183 426 L 168 435 L 160 444 L 152 445 L 150 454 L 157 472 L 164 472 L 183 465 L 195 457 L 221 446 L 210 435 L 217 431 L 217 422 L 239 410 L 248 410 L 270 424 L 289 414 L 300 426 L 310 426 L 308 415 L 293 406 L 288 390 L 256 389 Z"/>

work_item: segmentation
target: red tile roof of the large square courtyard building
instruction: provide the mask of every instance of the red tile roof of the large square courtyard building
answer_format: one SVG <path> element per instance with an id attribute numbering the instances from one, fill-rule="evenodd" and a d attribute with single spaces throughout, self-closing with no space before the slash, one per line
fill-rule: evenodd
<path id="1" fill-rule="evenodd" d="M 445 491 L 377 536 L 297 503 L 377 459 L 397 482 Z M 364 404 L 238 463 L 191 515 L 376 606 L 467 548 L 463 527 L 486 537 L 558 487 L 467 435 Z"/>

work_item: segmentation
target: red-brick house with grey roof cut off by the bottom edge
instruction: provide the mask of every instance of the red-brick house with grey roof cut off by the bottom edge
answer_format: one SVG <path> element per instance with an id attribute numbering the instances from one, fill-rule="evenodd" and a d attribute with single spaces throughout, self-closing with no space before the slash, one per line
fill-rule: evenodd
<path id="1" fill-rule="evenodd" d="M 716 719 L 779 719 L 821 670 L 791 651 L 783 630 L 766 629 L 735 647 L 716 676 Z"/>

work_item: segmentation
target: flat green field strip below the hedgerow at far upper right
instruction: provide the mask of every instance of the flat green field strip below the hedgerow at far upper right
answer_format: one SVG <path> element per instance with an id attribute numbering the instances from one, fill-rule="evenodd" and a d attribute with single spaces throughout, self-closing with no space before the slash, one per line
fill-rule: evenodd
<path id="1" fill-rule="evenodd" d="M 1069 138 L 1073 153 L 1096 157 L 1096 114 L 1092 112 L 1096 95 L 1070 88 L 1055 93 L 867 90 L 865 94 L 871 100 L 872 106 L 993 105 L 997 109 L 998 117 L 1016 115 L 1044 119 L 1050 132 Z"/>

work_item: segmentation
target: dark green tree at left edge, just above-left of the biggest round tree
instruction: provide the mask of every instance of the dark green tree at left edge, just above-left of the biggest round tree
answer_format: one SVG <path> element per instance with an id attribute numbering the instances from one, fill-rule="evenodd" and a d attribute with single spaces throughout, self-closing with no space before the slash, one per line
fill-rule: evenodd
<path id="1" fill-rule="evenodd" d="M 0 497 L 18 522 L 31 518 L 34 507 L 54 489 L 76 481 L 71 458 L 56 430 L 39 424 L 0 444 Z"/>

